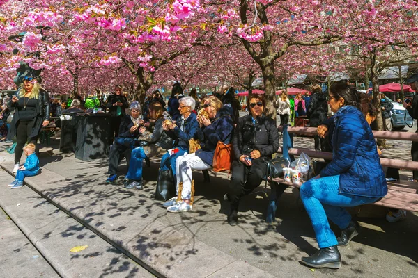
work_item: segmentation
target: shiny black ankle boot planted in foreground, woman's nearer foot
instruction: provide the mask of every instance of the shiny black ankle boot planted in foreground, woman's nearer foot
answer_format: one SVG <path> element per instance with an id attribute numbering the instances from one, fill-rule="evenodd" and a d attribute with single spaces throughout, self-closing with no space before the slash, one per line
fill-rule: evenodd
<path id="1" fill-rule="evenodd" d="M 312 256 L 302 257 L 302 263 L 311 268 L 341 268 L 341 255 L 336 245 L 320 248 Z"/>

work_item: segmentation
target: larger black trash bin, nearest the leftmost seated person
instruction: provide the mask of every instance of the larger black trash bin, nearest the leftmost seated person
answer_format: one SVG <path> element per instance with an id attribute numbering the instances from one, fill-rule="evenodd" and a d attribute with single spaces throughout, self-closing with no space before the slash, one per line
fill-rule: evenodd
<path id="1" fill-rule="evenodd" d="M 76 116 L 78 120 L 75 158 L 91 161 L 109 155 L 111 120 L 108 114 Z"/>

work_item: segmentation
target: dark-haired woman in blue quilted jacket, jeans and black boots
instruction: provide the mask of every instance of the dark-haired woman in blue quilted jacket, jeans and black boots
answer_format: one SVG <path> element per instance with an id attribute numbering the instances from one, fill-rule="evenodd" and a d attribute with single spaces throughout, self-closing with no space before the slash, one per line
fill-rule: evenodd
<path id="1" fill-rule="evenodd" d="M 332 161 L 320 174 L 305 182 L 300 197 L 311 218 L 320 250 L 302 263 L 312 268 L 340 268 L 338 246 L 346 246 L 360 232 L 344 207 L 376 202 L 387 194 L 387 183 L 373 132 L 360 110 L 359 93 L 346 84 L 330 88 L 329 104 L 334 114 Z M 318 126 L 323 137 L 327 126 Z M 336 238 L 328 222 L 339 228 Z"/>

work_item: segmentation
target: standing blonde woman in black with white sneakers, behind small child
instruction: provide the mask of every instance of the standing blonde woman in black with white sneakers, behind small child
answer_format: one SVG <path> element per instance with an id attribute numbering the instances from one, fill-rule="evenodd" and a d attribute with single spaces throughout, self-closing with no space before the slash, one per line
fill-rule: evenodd
<path id="1" fill-rule="evenodd" d="M 10 138 L 16 137 L 15 167 L 17 172 L 23 146 L 31 142 L 37 146 L 38 135 L 42 126 L 49 124 L 49 95 L 42 88 L 36 77 L 25 76 L 23 84 L 8 102 L 13 120 L 10 124 Z"/>

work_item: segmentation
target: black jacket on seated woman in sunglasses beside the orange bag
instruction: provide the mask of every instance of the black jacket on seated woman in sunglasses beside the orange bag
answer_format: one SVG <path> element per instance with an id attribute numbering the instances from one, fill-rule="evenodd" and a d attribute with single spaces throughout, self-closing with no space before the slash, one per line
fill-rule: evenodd
<path id="1" fill-rule="evenodd" d="M 233 151 L 239 161 L 243 154 L 260 151 L 261 157 L 271 158 L 279 149 L 279 131 L 276 121 L 262 115 L 254 126 L 251 115 L 240 117 L 233 134 Z"/>

